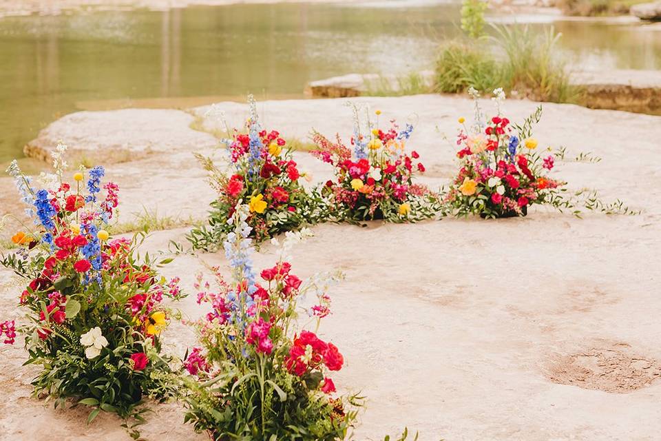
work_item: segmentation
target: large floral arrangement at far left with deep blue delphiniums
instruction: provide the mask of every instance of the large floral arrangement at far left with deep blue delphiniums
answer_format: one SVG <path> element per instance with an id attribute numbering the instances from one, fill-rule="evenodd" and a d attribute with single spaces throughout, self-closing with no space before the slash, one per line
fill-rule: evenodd
<path id="1" fill-rule="evenodd" d="M 134 250 L 142 236 L 113 240 L 104 229 L 118 186 L 101 184 L 103 167 L 89 170 L 86 182 L 77 172 L 72 184 L 62 181 L 59 167 L 50 188 L 38 190 L 16 161 L 8 172 L 34 225 L 12 236 L 11 254 L 0 254 L 0 263 L 26 281 L 19 305 L 27 314 L 0 324 L 4 342 L 25 336 L 25 364 L 41 369 L 35 396 L 54 399 L 56 407 L 67 398 L 90 406 L 88 422 L 101 411 L 142 421 L 143 397 L 171 392 L 160 334 L 175 314 L 162 300 L 182 295 L 178 278 L 167 281 L 154 269 L 169 259 L 140 260 Z"/>

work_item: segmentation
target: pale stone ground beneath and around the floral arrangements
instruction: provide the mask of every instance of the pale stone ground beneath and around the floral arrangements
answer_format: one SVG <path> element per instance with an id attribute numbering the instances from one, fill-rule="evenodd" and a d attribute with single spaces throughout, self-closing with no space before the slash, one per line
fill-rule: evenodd
<path id="1" fill-rule="evenodd" d="M 284 136 L 303 139 L 311 127 L 348 136 L 346 101 L 270 101 L 259 110 L 264 125 Z M 423 181 L 436 187 L 447 182 L 455 167 L 456 119 L 471 116 L 470 101 L 435 95 L 352 101 L 382 110 L 384 121 L 414 121 L 409 147 L 428 167 Z M 245 105 L 220 106 L 231 126 L 246 116 Z M 490 110 L 490 103 L 485 107 Z M 535 107 L 512 101 L 505 110 L 518 121 Z M 331 268 L 346 273 L 330 293 L 334 314 L 322 334 L 346 358 L 335 383 L 368 397 L 355 439 L 379 440 L 404 426 L 419 430 L 423 441 L 658 439 L 661 117 L 574 105 L 544 109 L 536 130 L 541 147 L 565 145 L 569 156 L 589 151 L 602 157 L 595 164 L 558 161 L 554 175 L 571 188 L 622 198 L 643 214 L 578 219 L 533 209 L 527 218 L 496 221 L 319 225 L 315 238 L 295 248 L 300 276 Z M 61 138 L 72 147 L 98 149 L 103 158 L 112 146 L 141 139 L 134 147 L 151 145 L 153 153 L 107 167 L 122 189 L 124 220 L 143 205 L 163 215 L 202 217 L 213 192 L 191 153 L 211 152 L 215 140 L 189 129 L 193 117 L 185 112 L 162 112 L 81 112 L 53 123 L 39 142 Z M 102 128 L 100 118 L 107 121 Z M 132 125 L 135 120 L 143 127 Z M 167 130 L 159 130 L 166 120 Z M 207 127 L 215 125 L 207 121 Z M 99 141 L 90 143 L 95 137 Z M 153 147 L 165 143 L 172 152 Z M 325 165 L 306 154 L 297 161 L 317 181 L 328 176 Z M 11 185 L 0 179 L 1 212 L 17 209 Z M 186 232 L 156 232 L 145 249 L 163 249 L 168 240 L 185 243 Z M 257 267 L 272 263 L 272 252 L 264 247 L 255 256 Z M 185 255 L 165 272 L 182 276 L 192 291 L 202 263 L 226 265 L 222 254 Z M 17 314 L 20 288 L 7 271 L 0 274 L 4 318 Z M 181 307 L 191 317 L 204 312 L 194 296 Z M 193 342 L 181 326 L 171 327 L 168 338 L 178 353 Z M 21 367 L 25 354 L 20 347 L 0 352 L 0 438 L 126 439 L 112 417 L 86 427 L 82 411 L 53 411 L 29 398 L 33 371 Z M 177 404 L 156 407 L 143 435 L 204 439 L 181 421 Z"/>

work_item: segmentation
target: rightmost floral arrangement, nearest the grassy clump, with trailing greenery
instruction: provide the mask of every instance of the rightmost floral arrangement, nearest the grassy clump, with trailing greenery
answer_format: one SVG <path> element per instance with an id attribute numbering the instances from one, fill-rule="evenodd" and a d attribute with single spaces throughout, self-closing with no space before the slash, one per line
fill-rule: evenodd
<path id="1" fill-rule="evenodd" d="M 525 216 L 533 204 L 570 207 L 562 197 L 562 181 L 549 177 L 554 155 L 538 152 L 532 126 L 541 119 L 541 107 L 523 124 L 512 124 L 500 112 L 504 94 L 496 93 L 496 115 L 483 121 L 476 101 L 476 121 L 462 125 L 457 137 L 461 169 L 445 201 L 459 216 L 478 214 L 483 218 Z"/>

